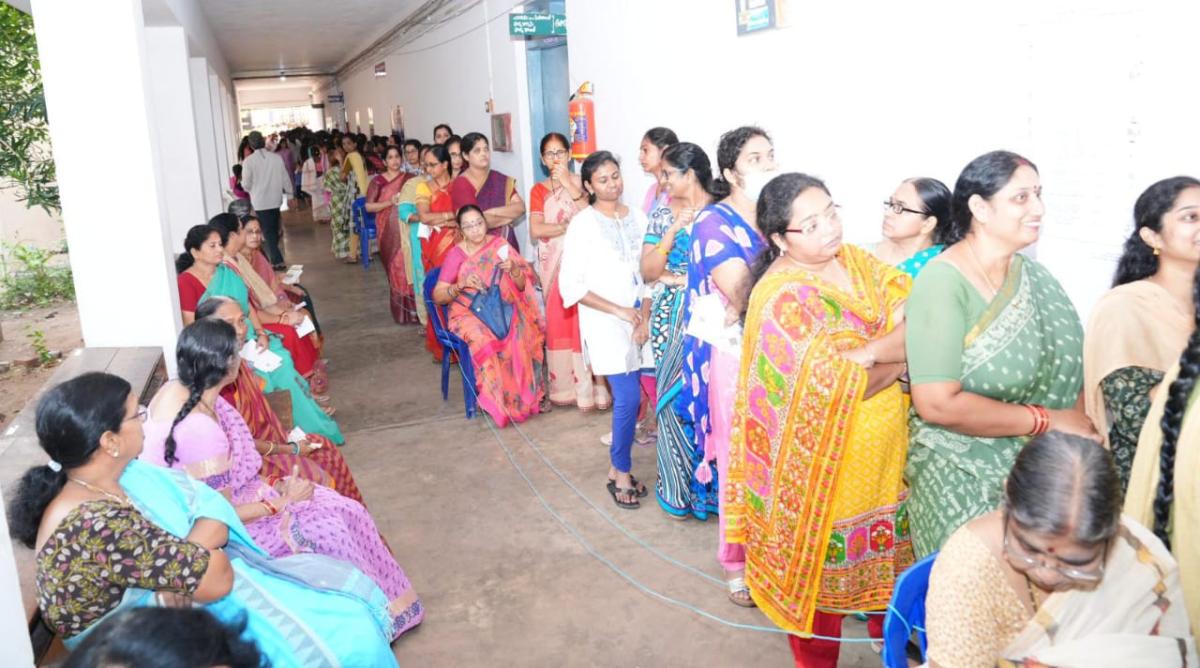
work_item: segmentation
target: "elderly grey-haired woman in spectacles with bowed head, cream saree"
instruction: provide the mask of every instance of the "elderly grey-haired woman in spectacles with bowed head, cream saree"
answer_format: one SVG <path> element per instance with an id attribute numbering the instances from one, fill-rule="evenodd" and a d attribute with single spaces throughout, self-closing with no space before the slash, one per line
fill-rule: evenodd
<path id="1" fill-rule="evenodd" d="M 935 667 L 1196 664 L 1175 560 L 1121 517 L 1109 452 L 1061 432 L 1031 440 L 1001 508 L 946 542 L 925 612 Z"/>

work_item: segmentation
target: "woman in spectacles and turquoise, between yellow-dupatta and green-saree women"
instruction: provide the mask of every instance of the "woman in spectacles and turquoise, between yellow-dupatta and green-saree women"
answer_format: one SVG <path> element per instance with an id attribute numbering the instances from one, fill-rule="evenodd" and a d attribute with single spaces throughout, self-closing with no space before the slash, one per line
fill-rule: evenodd
<path id="1" fill-rule="evenodd" d="M 919 176 L 900 183 L 883 203 L 883 240 L 871 251 L 913 278 L 946 248 L 950 188 Z"/>

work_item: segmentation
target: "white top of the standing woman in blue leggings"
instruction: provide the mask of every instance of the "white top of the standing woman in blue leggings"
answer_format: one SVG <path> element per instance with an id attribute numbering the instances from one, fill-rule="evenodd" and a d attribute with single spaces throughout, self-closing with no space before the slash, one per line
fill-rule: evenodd
<path id="1" fill-rule="evenodd" d="M 558 290 L 563 306 L 594 293 L 618 306 L 642 297 L 642 239 L 646 213 L 630 206 L 624 218 L 610 218 L 588 206 L 571 218 L 563 236 Z M 592 373 L 613 375 L 642 368 L 634 325 L 580 303 L 580 335 Z"/>

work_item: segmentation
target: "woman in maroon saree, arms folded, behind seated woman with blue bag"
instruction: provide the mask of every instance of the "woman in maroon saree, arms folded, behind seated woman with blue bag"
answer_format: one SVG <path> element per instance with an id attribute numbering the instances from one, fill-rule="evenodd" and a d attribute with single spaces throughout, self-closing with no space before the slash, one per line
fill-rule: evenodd
<path id="1" fill-rule="evenodd" d="M 517 181 L 492 169 L 492 149 L 487 137 L 470 132 L 462 138 L 462 155 L 467 170 L 450 183 L 450 199 L 458 211 L 474 204 L 484 212 L 490 234 L 503 236 L 514 248 L 517 235 L 512 223 L 524 215 L 524 200 L 517 192 Z"/>

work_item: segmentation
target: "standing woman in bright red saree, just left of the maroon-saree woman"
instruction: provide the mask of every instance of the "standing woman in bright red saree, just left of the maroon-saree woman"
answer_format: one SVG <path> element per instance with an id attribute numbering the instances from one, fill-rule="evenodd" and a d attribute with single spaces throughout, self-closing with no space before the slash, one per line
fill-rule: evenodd
<path id="1" fill-rule="evenodd" d="M 416 185 L 416 215 L 428 229 L 421 239 L 421 264 L 428 273 L 442 266 L 462 235 L 450 198 L 450 152 L 445 146 L 434 145 L 425 154 L 425 173 L 428 179 Z M 442 361 L 442 345 L 433 336 L 432 321 L 425 324 L 425 348 Z"/>

